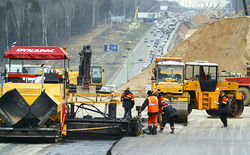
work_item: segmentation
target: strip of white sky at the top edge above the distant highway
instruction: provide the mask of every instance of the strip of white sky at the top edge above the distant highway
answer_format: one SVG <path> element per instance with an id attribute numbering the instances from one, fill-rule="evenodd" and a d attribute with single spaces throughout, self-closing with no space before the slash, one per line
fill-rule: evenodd
<path id="1" fill-rule="evenodd" d="M 180 5 L 185 7 L 204 7 L 204 6 L 212 7 L 212 5 L 216 6 L 219 3 L 221 7 L 224 7 L 228 3 L 227 0 L 169 0 L 169 1 L 179 2 Z"/>

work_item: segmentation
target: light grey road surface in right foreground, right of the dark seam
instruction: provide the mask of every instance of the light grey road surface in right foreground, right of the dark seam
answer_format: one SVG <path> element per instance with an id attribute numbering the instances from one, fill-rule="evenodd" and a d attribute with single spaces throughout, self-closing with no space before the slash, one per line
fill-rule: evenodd
<path id="1" fill-rule="evenodd" d="M 166 126 L 164 133 L 155 136 L 124 137 L 112 148 L 112 154 L 250 154 L 250 107 L 245 108 L 240 118 L 229 118 L 228 124 L 228 128 L 221 128 L 219 118 L 193 110 L 188 125 L 177 125 L 175 134 L 170 134 L 169 126 Z"/>

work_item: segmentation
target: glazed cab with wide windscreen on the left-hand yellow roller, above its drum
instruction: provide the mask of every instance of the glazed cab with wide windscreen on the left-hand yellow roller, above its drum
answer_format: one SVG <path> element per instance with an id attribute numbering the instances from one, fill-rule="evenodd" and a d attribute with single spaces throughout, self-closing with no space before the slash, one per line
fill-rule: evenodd
<path id="1" fill-rule="evenodd" d="M 163 61 L 157 64 L 156 83 L 183 82 L 184 63 L 176 61 Z"/>

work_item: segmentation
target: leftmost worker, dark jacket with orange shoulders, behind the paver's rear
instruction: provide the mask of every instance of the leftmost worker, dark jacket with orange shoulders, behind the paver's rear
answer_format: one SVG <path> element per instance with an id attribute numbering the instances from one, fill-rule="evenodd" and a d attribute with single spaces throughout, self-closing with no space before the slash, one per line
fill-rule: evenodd
<path id="1" fill-rule="evenodd" d="M 135 105 L 134 95 L 130 92 L 130 88 L 127 88 L 121 96 L 122 106 L 124 108 L 123 118 L 132 118 L 131 109 Z"/>

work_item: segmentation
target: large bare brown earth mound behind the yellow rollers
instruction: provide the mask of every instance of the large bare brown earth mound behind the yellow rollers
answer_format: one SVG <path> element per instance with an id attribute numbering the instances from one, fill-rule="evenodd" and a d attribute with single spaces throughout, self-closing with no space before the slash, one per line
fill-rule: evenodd
<path id="1" fill-rule="evenodd" d="M 194 32 L 165 56 L 181 57 L 184 62 L 209 61 L 217 63 L 219 70 L 245 75 L 246 63 L 250 63 L 249 18 L 224 18 L 210 23 Z M 145 86 L 151 84 L 152 68 L 153 65 L 120 89 L 130 87 L 137 90 L 136 95 L 145 95 Z"/>

